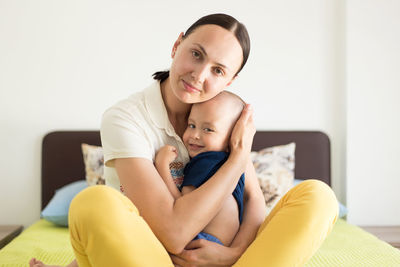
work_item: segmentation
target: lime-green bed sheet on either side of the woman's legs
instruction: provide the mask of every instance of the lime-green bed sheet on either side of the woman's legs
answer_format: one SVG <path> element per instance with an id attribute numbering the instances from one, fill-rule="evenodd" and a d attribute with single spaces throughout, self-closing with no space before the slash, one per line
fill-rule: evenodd
<path id="1" fill-rule="evenodd" d="M 73 259 L 68 229 L 40 220 L 0 250 L 0 266 L 28 266 L 35 257 L 47 264 L 66 265 Z M 265 264 L 268 266 L 268 263 Z M 306 264 L 314 266 L 400 266 L 400 250 L 359 227 L 339 219 L 321 248 Z"/>

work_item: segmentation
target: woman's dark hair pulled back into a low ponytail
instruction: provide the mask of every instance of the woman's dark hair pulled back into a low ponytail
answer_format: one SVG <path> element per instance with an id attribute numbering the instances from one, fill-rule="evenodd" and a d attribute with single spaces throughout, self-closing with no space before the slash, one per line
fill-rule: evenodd
<path id="1" fill-rule="evenodd" d="M 232 16 L 226 14 L 211 14 L 204 16 L 193 23 L 192 26 L 190 26 L 189 29 L 187 29 L 187 31 L 185 32 L 183 39 L 191 34 L 196 28 L 208 24 L 218 25 L 224 29 L 227 29 L 228 31 L 232 32 L 239 41 L 243 51 L 243 61 L 239 70 L 235 74 L 237 75 L 243 69 L 250 54 L 250 37 L 246 27 Z M 157 71 L 153 74 L 153 78 L 155 80 L 159 80 L 160 82 L 165 81 L 168 77 L 169 70 Z"/>

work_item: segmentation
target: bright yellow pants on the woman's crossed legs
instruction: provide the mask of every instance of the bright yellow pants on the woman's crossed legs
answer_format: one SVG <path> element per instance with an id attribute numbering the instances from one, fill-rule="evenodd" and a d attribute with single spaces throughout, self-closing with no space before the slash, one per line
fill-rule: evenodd
<path id="1" fill-rule="evenodd" d="M 333 191 L 317 180 L 292 188 L 261 225 L 234 266 L 302 266 L 332 230 Z M 132 202 L 107 186 L 92 186 L 71 203 L 69 227 L 80 267 L 173 266 Z"/>

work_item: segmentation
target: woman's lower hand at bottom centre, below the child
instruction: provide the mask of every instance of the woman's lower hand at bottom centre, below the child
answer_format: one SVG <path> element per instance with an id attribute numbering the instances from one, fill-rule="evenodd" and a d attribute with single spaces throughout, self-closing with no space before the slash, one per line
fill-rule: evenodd
<path id="1" fill-rule="evenodd" d="M 178 255 L 170 255 L 175 266 L 232 266 L 241 256 L 239 252 L 205 239 L 191 241 Z"/>

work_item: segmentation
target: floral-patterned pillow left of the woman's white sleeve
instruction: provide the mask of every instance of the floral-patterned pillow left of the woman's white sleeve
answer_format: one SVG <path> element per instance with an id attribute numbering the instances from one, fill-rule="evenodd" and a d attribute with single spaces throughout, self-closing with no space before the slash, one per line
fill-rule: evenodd
<path id="1" fill-rule="evenodd" d="M 88 185 L 105 184 L 103 148 L 88 144 L 81 147 Z"/>

